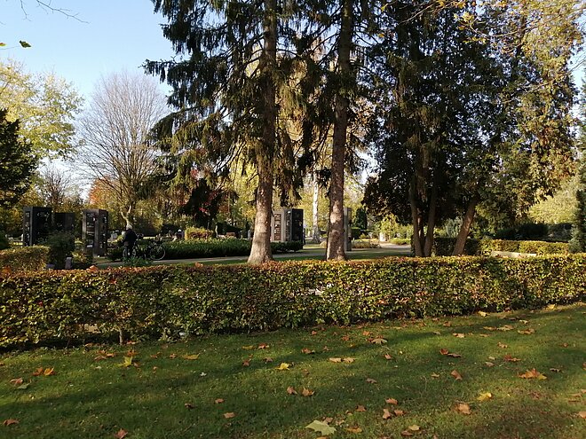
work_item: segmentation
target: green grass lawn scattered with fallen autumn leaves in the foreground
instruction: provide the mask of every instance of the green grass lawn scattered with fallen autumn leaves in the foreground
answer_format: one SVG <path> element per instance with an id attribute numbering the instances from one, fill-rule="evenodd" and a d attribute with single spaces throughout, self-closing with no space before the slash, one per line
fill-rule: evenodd
<path id="1" fill-rule="evenodd" d="M 3 353 L 0 437 L 583 438 L 585 313 Z"/>

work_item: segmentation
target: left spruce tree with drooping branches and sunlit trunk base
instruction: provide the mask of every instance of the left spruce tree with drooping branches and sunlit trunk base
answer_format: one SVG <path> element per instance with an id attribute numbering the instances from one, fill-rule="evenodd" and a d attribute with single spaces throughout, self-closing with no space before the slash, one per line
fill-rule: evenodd
<path id="1" fill-rule="evenodd" d="M 223 175 L 237 158 L 257 172 L 256 218 L 249 263 L 272 259 L 274 170 L 281 157 L 277 138 L 279 94 L 293 71 L 296 4 L 276 0 L 209 2 L 153 0 L 154 11 L 178 53 L 147 61 L 147 71 L 172 87 L 177 111 L 159 127 L 186 169 L 198 163 Z M 186 175 L 187 173 L 184 173 Z"/>

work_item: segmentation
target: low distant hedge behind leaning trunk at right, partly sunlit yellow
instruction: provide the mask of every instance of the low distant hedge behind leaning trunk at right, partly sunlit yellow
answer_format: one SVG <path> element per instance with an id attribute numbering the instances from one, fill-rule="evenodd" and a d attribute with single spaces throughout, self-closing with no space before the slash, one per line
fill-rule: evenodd
<path id="1" fill-rule="evenodd" d="M 452 255 L 455 238 L 434 239 L 434 255 Z M 566 255 L 566 242 L 511 241 L 505 239 L 466 239 L 464 255 L 487 256 L 490 252 L 536 253 L 537 255 Z"/>

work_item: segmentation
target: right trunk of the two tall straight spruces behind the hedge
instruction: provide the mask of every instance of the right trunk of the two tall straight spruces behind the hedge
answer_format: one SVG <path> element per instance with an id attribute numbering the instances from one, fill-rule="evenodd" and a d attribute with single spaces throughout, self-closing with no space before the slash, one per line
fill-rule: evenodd
<path id="1" fill-rule="evenodd" d="M 336 120 L 332 139 L 332 169 L 329 187 L 327 260 L 344 260 L 344 156 L 348 129 L 348 98 L 345 89 L 351 79 L 352 0 L 342 0 L 342 22 L 337 47 L 338 75 L 342 78 L 336 97 Z"/>

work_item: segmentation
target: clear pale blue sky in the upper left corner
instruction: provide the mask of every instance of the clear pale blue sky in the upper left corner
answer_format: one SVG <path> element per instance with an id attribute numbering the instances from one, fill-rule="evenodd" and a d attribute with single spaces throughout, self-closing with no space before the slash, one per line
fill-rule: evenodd
<path id="1" fill-rule="evenodd" d="M 23 4 L 24 11 L 20 4 Z M 145 59 L 170 59 L 162 16 L 150 0 L 44 0 L 75 18 L 39 7 L 36 0 L 0 0 L 0 59 L 29 73 L 52 72 L 90 95 L 102 74 L 142 72 Z M 23 40 L 32 47 L 23 49 Z M 166 90 L 162 86 L 162 90 Z"/>

